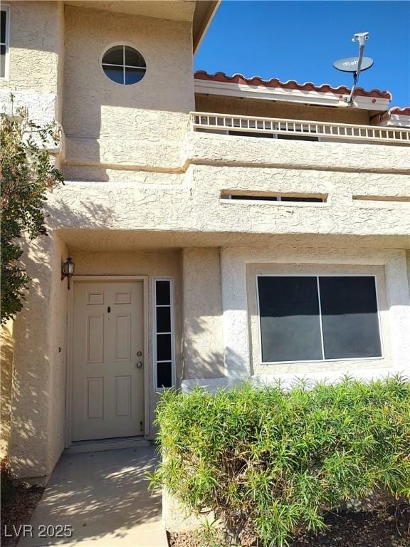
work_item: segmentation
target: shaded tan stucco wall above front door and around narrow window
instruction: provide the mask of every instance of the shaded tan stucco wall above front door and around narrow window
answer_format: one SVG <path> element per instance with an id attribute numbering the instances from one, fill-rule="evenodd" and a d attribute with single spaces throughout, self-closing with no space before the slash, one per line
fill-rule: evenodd
<path id="1" fill-rule="evenodd" d="M 149 240 L 144 240 L 149 244 Z M 174 279 L 175 291 L 175 321 L 174 321 L 174 347 L 175 361 L 177 364 L 177 381 L 181 377 L 181 316 L 182 316 L 182 283 L 179 268 L 179 251 L 143 251 L 136 249 L 131 252 L 72 252 L 75 261 L 75 274 L 85 276 L 101 275 L 135 275 L 148 276 L 148 348 L 145 350 L 145 373 L 149 378 L 149 437 L 154 437 L 152 421 L 154 409 L 159 398 L 154 390 L 153 363 L 152 363 L 152 314 L 153 314 L 153 279 L 155 277 L 171 277 Z"/>

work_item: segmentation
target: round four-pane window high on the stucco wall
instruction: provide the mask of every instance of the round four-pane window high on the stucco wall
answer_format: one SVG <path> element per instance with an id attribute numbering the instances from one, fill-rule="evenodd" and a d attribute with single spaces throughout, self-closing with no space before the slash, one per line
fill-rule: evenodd
<path id="1" fill-rule="evenodd" d="M 137 83 L 144 78 L 147 65 L 141 53 L 130 46 L 114 46 L 102 56 L 102 70 L 113 82 L 122 85 Z"/>

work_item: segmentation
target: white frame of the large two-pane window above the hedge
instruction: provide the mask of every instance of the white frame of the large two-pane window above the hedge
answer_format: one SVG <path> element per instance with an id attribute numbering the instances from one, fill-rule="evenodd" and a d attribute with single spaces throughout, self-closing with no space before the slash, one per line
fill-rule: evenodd
<path id="1" fill-rule="evenodd" d="M 322 345 L 322 359 L 302 359 L 302 360 L 290 360 L 290 361 L 263 361 L 262 360 L 262 330 L 261 330 L 261 310 L 259 304 L 259 288 L 258 278 L 260 277 L 315 277 L 317 282 L 317 296 L 319 304 L 319 319 L 320 319 L 320 340 Z M 324 351 L 323 341 L 323 325 L 322 325 L 322 304 L 320 302 L 320 277 L 372 277 L 374 278 L 374 291 L 376 293 L 376 306 L 377 306 L 377 325 L 379 327 L 379 340 L 381 355 L 377 357 L 347 357 L 347 358 L 335 358 L 326 359 Z M 335 363 L 340 361 L 374 361 L 384 359 L 384 343 L 382 333 L 382 321 L 380 318 L 380 306 L 379 306 L 379 291 L 377 288 L 377 274 L 376 273 L 256 273 L 256 310 L 258 313 L 258 351 L 260 356 L 261 365 L 289 365 L 292 363 Z"/>

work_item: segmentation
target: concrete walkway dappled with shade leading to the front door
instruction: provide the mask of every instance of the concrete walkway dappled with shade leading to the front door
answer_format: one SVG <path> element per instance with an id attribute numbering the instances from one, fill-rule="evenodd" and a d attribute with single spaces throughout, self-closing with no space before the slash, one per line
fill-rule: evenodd
<path id="1" fill-rule="evenodd" d="M 161 492 L 150 494 L 145 479 L 157 462 L 154 446 L 63 455 L 31 517 L 34 537 L 18 547 L 167 547 Z M 39 538 L 40 525 L 73 535 Z"/>

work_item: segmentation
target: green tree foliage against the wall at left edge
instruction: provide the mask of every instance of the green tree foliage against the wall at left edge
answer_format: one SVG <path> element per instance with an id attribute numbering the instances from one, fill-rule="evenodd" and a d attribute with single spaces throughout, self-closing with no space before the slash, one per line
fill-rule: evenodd
<path id="1" fill-rule="evenodd" d="M 20 262 L 21 238 L 46 235 L 47 192 L 63 182 L 48 151 L 58 140 L 56 124 L 36 125 L 26 108 L 0 115 L 1 323 L 21 310 L 30 283 Z"/>

